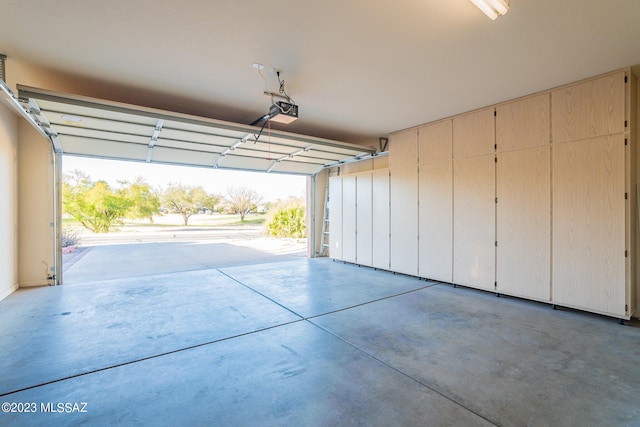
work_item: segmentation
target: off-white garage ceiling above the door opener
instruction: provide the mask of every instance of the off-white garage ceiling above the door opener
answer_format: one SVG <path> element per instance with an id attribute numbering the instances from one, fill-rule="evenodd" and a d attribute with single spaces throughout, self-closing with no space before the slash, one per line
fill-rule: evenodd
<path id="1" fill-rule="evenodd" d="M 640 1 L 511 0 L 491 21 L 469 0 L 0 0 L 0 53 L 77 77 L 80 94 L 243 124 L 270 104 L 259 62 L 300 106 L 281 129 L 377 145 L 640 64 Z"/>

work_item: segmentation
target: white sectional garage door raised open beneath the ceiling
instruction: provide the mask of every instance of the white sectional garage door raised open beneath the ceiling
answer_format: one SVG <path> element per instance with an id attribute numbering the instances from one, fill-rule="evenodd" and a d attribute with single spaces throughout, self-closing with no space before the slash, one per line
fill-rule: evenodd
<path id="1" fill-rule="evenodd" d="M 57 153 L 314 175 L 374 150 L 323 138 L 18 85 Z"/>

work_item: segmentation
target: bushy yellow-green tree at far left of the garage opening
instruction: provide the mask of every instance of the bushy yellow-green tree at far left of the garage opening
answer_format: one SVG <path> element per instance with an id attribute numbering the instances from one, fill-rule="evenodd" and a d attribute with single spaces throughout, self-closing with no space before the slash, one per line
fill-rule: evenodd
<path id="1" fill-rule="evenodd" d="M 96 233 L 107 233 L 133 206 L 133 201 L 113 191 L 105 181 L 93 182 L 81 171 L 73 171 L 63 178 L 62 209 L 85 228 Z"/>

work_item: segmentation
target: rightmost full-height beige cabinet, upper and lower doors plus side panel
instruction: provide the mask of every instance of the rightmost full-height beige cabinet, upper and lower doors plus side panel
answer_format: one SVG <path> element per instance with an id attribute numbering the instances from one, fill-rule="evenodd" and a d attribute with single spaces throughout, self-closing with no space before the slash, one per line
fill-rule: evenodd
<path id="1" fill-rule="evenodd" d="M 639 286 L 636 91 L 623 70 L 551 93 L 552 300 L 625 319 Z"/>

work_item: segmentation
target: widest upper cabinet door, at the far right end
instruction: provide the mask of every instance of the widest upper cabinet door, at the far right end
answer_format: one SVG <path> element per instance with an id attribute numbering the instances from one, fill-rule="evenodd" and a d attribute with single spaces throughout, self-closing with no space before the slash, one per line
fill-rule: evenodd
<path id="1" fill-rule="evenodd" d="M 553 91 L 553 142 L 624 132 L 624 91 L 623 72 Z"/>

